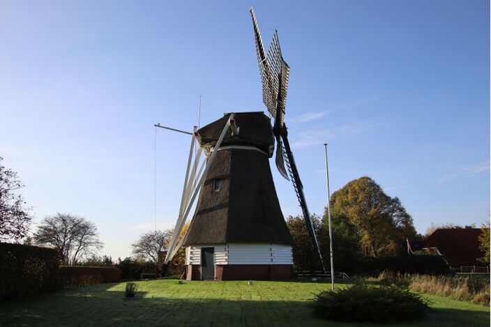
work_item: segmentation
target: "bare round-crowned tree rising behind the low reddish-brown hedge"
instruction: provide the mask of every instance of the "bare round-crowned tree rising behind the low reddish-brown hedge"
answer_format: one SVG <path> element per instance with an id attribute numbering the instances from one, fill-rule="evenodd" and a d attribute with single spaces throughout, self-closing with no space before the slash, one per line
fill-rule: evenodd
<path id="1" fill-rule="evenodd" d="M 83 257 L 103 248 L 96 225 L 69 213 L 44 218 L 34 234 L 34 243 L 59 249 L 67 264 L 77 264 Z"/>

